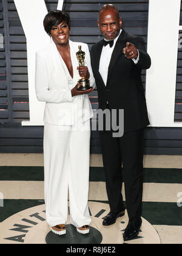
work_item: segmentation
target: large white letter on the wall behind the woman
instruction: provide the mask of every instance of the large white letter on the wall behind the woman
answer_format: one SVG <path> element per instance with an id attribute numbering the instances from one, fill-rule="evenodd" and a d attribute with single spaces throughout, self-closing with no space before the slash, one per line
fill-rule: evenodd
<path id="1" fill-rule="evenodd" d="M 29 77 L 30 121 L 23 121 L 22 126 L 42 126 L 44 102 L 39 102 L 35 94 L 35 52 L 44 48 L 50 38 L 44 31 L 43 20 L 47 14 L 44 0 L 14 0 L 27 39 L 27 63 Z M 58 2 L 62 10 L 63 0 Z"/>

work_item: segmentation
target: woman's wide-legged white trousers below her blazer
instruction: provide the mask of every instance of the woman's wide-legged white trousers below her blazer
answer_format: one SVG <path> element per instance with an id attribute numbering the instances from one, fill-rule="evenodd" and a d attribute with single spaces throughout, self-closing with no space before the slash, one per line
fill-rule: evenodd
<path id="1" fill-rule="evenodd" d="M 44 196 L 47 223 L 89 225 L 90 120 L 73 126 L 44 126 Z"/>

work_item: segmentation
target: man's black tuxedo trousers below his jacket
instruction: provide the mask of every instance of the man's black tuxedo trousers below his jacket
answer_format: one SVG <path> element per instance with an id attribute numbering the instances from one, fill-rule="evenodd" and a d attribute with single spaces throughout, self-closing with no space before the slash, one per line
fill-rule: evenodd
<path id="1" fill-rule="evenodd" d="M 123 207 L 121 188 L 124 181 L 126 208 L 130 220 L 141 217 L 143 137 L 144 129 L 124 133 L 120 138 L 113 138 L 111 131 L 100 132 L 110 210 L 117 212 Z"/>

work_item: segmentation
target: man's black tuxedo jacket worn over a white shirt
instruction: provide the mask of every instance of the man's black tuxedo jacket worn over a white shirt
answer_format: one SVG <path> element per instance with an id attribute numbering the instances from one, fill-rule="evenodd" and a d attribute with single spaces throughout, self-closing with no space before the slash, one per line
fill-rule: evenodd
<path id="1" fill-rule="evenodd" d="M 140 60 L 135 64 L 123 54 L 123 48 L 129 41 L 135 44 L 140 52 Z M 93 75 L 98 89 L 99 108 L 124 109 L 124 132 L 132 132 L 149 125 L 146 99 L 141 82 L 142 69 L 150 68 L 150 57 L 146 52 L 144 40 L 141 37 L 127 34 L 122 30 L 116 41 L 110 60 L 107 85 L 99 74 L 99 60 L 103 49 L 103 40 L 92 46 L 90 55 Z"/>

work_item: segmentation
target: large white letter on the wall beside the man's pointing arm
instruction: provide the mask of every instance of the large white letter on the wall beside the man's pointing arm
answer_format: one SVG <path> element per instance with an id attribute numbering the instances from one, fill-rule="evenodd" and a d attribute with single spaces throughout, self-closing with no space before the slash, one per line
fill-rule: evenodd
<path id="1" fill-rule="evenodd" d="M 153 127 L 182 127 L 174 122 L 181 0 L 150 0 L 146 100 Z"/>

